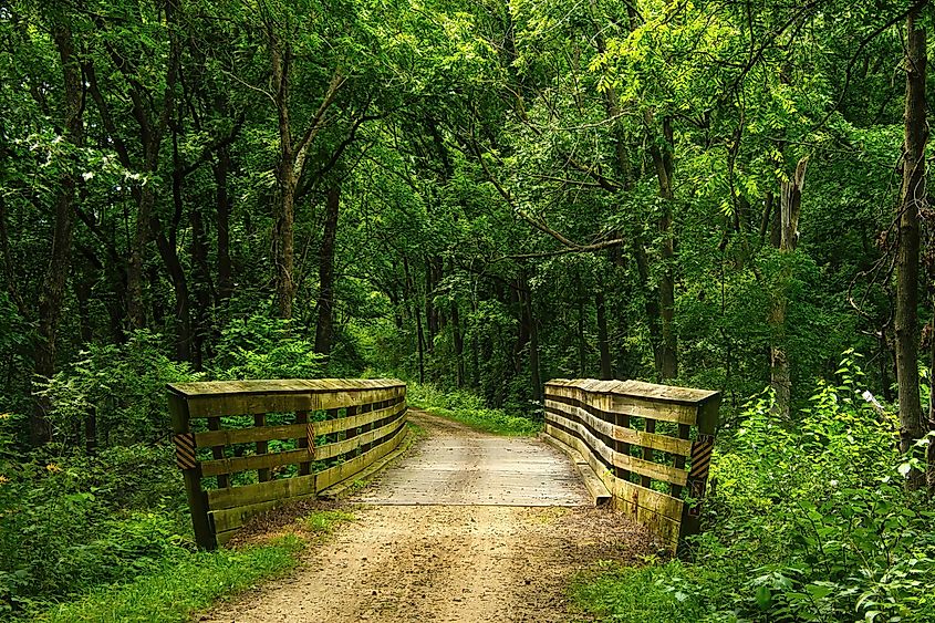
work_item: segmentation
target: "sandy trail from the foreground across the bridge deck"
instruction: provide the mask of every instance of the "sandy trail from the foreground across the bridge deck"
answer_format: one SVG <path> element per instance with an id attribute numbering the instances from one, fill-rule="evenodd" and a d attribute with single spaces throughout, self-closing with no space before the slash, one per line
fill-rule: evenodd
<path id="1" fill-rule="evenodd" d="M 429 438 L 360 496 L 371 503 L 356 507 L 354 522 L 312 548 L 291 578 L 200 620 L 575 621 L 565 598 L 570 577 L 599 559 L 643 553 L 631 547 L 642 539 L 640 529 L 582 506 L 586 498 L 562 476 L 571 467 L 544 444 L 485 435 L 427 414 L 414 419 L 429 429 Z M 500 458 L 485 463 L 485 448 Z M 435 460 L 438 453 L 448 463 Z M 555 503 L 564 506 L 542 506 L 549 479 L 518 476 L 523 461 L 512 454 L 554 470 L 561 480 Z M 485 465 L 499 468 L 491 475 Z M 419 475 L 443 505 L 426 503 L 428 494 L 415 486 Z M 445 478 L 449 486 L 439 481 Z M 491 482 L 505 484 L 501 494 L 510 506 L 487 497 L 482 486 Z M 453 490 L 459 495 L 449 495 Z"/>

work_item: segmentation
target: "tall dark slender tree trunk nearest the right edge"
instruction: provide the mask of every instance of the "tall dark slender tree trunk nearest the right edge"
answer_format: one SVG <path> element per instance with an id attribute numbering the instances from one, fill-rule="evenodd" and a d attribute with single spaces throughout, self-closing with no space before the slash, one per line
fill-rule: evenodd
<path id="1" fill-rule="evenodd" d="M 918 393 L 918 215 L 926 204 L 925 144 L 928 141 L 925 102 L 925 30 L 916 24 L 917 14 L 906 20 L 905 143 L 903 184 L 900 193 L 900 243 L 896 252 L 896 377 L 900 387 L 900 449 L 908 451 L 927 428 Z M 908 474 L 906 486 L 920 489 L 925 476 Z"/>

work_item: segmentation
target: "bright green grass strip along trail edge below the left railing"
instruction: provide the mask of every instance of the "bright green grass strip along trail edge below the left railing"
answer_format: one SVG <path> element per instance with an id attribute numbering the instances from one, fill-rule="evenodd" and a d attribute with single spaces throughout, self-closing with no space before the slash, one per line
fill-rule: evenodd
<path id="1" fill-rule="evenodd" d="M 279 575 L 298 564 L 304 541 L 295 536 L 242 550 L 197 552 L 166 561 L 157 571 L 123 585 L 95 590 L 54 608 L 37 621 L 175 623 L 217 600 Z"/>

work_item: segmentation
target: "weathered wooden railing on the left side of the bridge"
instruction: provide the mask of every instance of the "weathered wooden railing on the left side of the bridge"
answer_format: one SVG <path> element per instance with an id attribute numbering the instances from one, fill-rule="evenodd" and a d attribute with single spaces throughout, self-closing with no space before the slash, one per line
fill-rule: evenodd
<path id="1" fill-rule="evenodd" d="M 321 378 L 168 386 L 176 463 L 199 547 L 224 544 L 247 520 L 314 497 L 395 449 L 406 385 Z"/>

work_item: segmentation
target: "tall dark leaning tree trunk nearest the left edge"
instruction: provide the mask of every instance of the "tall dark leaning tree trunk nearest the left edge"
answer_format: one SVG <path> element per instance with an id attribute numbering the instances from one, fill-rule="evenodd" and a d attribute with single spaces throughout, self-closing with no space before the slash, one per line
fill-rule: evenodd
<path id="1" fill-rule="evenodd" d="M 55 48 L 62 62 L 62 79 L 64 83 L 65 107 L 64 127 L 65 139 L 74 146 L 80 146 L 84 139 L 82 113 L 84 97 L 82 94 L 81 68 L 75 58 L 75 46 L 72 31 L 69 27 L 56 23 L 52 30 Z M 77 165 L 69 164 L 69 169 L 62 176 L 59 194 L 55 199 L 55 221 L 52 230 L 52 249 L 49 266 L 45 270 L 43 287 L 39 295 L 39 331 L 35 344 L 35 361 L 33 372 L 39 377 L 51 377 L 55 373 L 55 338 L 59 330 L 59 319 L 62 312 L 62 300 L 69 277 L 71 260 L 72 229 L 74 214 L 72 203 L 77 181 Z M 49 401 L 38 397 L 35 408 L 30 418 L 30 440 L 39 446 L 52 438 L 52 427 L 45 415 L 49 412 Z"/>

